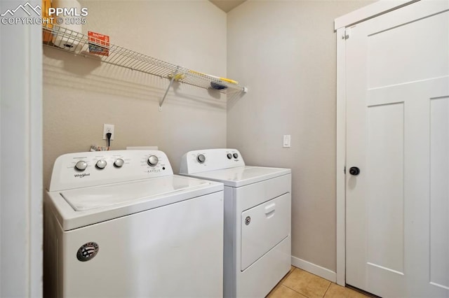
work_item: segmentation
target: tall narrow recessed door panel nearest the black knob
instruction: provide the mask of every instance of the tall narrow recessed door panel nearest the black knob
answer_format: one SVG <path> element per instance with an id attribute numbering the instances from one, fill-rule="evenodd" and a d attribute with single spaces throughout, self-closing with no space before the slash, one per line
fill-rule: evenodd
<path id="1" fill-rule="evenodd" d="M 404 105 L 368 107 L 367 262 L 403 272 Z M 394 215 L 394 216 L 391 216 Z"/>

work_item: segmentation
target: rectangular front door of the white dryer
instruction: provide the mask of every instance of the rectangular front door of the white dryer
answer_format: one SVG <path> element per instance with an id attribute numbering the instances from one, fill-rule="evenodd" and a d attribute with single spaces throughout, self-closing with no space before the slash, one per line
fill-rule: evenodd
<path id="1" fill-rule="evenodd" d="M 290 234 L 290 192 L 241 213 L 241 271 Z"/>

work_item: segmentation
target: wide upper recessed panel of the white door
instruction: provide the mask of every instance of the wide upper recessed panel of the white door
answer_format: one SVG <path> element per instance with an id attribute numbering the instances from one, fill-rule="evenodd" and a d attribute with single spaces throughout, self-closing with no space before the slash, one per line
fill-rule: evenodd
<path id="1" fill-rule="evenodd" d="M 410 22 L 410 17 L 404 22 Z M 442 44 L 449 34 L 447 14 L 433 15 L 398 27 L 380 25 L 377 30 L 368 35 L 368 88 L 447 75 L 449 59 L 441 59 L 448 55 L 447 45 Z M 435 47 L 429 51 L 431 45 Z"/>

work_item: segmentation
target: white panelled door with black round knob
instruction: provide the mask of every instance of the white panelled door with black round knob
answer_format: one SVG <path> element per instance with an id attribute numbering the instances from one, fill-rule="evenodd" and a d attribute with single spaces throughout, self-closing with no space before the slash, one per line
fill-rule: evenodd
<path id="1" fill-rule="evenodd" d="M 347 34 L 346 283 L 449 297 L 449 1 Z"/>

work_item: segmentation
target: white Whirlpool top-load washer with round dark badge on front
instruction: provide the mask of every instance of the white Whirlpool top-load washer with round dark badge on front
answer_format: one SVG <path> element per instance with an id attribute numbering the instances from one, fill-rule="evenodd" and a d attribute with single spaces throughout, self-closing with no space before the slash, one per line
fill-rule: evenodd
<path id="1" fill-rule="evenodd" d="M 44 214 L 44 297 L 222 297 L 223 185 L 161 151 L 58 157 Z"/>

